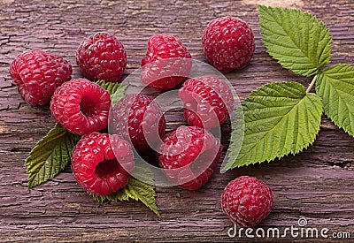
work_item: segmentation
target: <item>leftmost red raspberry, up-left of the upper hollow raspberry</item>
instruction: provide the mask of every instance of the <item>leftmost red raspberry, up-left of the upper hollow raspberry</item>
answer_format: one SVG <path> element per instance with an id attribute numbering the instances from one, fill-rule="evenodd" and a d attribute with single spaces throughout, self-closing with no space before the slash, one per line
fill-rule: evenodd
<path id="1" fill-rule="evenodd" d="M 54 90 L 70 80 L 72 72 L 72 66 L 63 57 L 40 49 L 20 54 L 10 65 L 19 95 L 31 105 L 49 103 Z"/>

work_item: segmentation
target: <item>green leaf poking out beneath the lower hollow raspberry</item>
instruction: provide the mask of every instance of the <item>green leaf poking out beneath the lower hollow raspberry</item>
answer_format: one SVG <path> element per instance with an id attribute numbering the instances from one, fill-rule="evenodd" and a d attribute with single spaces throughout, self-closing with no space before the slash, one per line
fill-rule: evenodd
<path id="1" fill-rule="evenodd" d="M 155 186 L 153 185 L 153 173 L 149 168 L 135 167 L 134 173 L 143 174 L 145 178 L 148 179 L 148 183 L 144 183 L 136 178 L 131 177 L 127 186 L 120 189 L 118 192 L 105 195 L 97 196 L 95 194 L 90 194 L 96 201 L 127 201 L 129 199 L 134 199 L 135 201 L 142 201 L 145 206 L 151 209 L 154 213 L 159 215 L 158 206 L 156 205 L 156 192 Z"/>

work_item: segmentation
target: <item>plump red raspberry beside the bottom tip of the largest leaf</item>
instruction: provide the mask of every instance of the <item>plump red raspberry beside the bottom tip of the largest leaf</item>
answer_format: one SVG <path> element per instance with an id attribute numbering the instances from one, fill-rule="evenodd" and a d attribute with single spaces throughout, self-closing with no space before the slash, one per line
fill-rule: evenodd
<path id="1" fill-rule="evenodd" d="M 196 190 L 215 171 L 221 145 L 212 133 L 196 126 L 180 126 L 165 134 L 158 151 L 158 164 L 166 177 L 182 188 Z"/>

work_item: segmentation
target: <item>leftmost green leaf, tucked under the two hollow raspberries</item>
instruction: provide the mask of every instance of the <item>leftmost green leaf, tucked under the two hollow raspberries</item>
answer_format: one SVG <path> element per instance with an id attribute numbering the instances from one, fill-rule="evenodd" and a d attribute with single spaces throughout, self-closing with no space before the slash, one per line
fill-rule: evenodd
<path id="1" fill-rule="evenodd" d="M 67 132 L 63 126 L 54 125 L 37 142 L 26 159 L 28 187 L 41 185 L 63 171 L 71 159 L 73 146 L 79 139 L 79 135 Z"/>

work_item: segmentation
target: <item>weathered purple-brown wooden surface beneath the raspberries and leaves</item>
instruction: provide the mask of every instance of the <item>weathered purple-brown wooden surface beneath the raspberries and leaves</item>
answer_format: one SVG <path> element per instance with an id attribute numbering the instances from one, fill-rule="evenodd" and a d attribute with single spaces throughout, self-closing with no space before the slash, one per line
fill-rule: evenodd
<path id="1" fill-rule="evenodd" d="M 273 189 L 273 211 L 260 226 L 296 226 L 299 217 L 305 216 L 309 227 L 350 232 L 354 240 L 354 139 L 326 117 L 313 146 L 297 156 L 223 175 L 217 172 L 196 192 L 157 188 L 161 216 L 136 201 L 103 205 L 93 201 L 75 184 L 70 168 L 42 186 L 27 189 L 24 161 L 55 121 L 48 106 L 33 108 L 21 100 L 8 72 L 14 57 L 28 49 L 45 49 L 69 60 L 73 78 L 79 78 L 81 73 L 75 63 L 79 43 L 89 34 L 107 31 L 127 49 L 127 76 L 140 66 L 146 42 L 155 33 L 174 34 L 192 57 L 204 61 L 204 27 L 211 19 L 232 15 L 250 24 L 257 44 L 247 68 L 226 74 L 241 100 L 273 81 L 297 80 L 307 86 L 310 79 L 282 69 L 266 54 L 257 4 L 297 7 L 315 14 L 333 35 L 333 63 L 353 65 L 352 0 L 0 0 L 0 241 L 270 240 L 227 237 L 233 224 L 221 211 L 220 195 L 227 182 L 240 175 L 256 176 Z M 168 120 L 169 131 L 185 124 L 181 114 L 172 117 L 177 120 Z M 223 126 L 223 132 L 223 143 L 227 145 L 229 125 Z M 288 240 L 292 240 L 290 236 Z"/>

